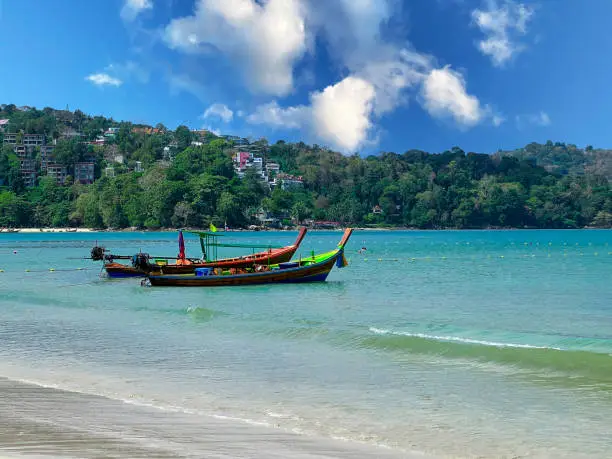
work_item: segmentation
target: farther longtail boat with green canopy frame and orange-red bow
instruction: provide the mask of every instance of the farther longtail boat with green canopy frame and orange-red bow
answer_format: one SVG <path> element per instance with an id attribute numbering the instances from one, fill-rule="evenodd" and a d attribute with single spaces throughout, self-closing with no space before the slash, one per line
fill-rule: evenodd
<path id="1" fill-rule="evenodd" d="M 196 234 L 200 238 L 200 246 L 202 248 L 201 259 L 187 258 L 185 256 L 182 231 L 179 231 L 179 255 L 174 258 L 153 257 L 146 253 L 138 253 L 133 256 L 109 255 L 105 254 L 104 249 L 101 247 L 94 247 L 92 249 L 91 258 L 104 261 L 104 269 L 109 277 L 144 277 L 147 274 L 191 274 L 197 268 L 241 269 L 254 265 L 274 265 L 291 260 L 304 240 L 307 229 L 301 227 L 295 242 L 285 247 L 223 244 L 218 242 L 217 238 L 221 235 L 216 232 L 188 232 Z M 217 249 L 219 247 L 266 248 L 267 250 L 240 257 L 217 258 Z M 117 263 L 115 261 L 117 259 L 129 259 L 132 264 Z M 174 262 L 168 263 L 168 260 L 174 260 Z"/>

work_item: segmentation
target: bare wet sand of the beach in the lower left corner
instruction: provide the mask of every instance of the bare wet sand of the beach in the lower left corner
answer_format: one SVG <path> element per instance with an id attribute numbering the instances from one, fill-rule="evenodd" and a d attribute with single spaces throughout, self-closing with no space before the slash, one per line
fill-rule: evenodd
<path id="1" fill-rule="evenodd" d="M 24 456 L 423 458 L 0 378 L 0 458 Z"/>

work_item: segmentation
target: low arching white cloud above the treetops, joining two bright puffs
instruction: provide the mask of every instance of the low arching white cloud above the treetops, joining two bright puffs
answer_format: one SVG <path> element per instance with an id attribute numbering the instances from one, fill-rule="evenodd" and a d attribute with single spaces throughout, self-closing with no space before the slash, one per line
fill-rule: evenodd
<path id="1" fill-rule="evenodd" d="M 418 54 L 406 55 L 401 62 L 405 67 L 399 70 L 380 64 L 369 69 L 371 73 L 364 69 L 370 78 L 351 75 L 313 92 L 310 105 L 283 108 L 276 101 L 260 105 L 246 120 L 273 128 L 303 129 L 317 142 L 353 153 L 372 143 L 377 117 L 398 103 L 392 96 L 405 88 L 420 87 L 422 105 L 436 118 L 453 118 L 462 127 L 487 118 L 495 126 L 503 123 L 500 114 L 481 106 L 478 98 L 467 93 L 463 76 L 449 66 L 432 69 L 431 60 Z"/>

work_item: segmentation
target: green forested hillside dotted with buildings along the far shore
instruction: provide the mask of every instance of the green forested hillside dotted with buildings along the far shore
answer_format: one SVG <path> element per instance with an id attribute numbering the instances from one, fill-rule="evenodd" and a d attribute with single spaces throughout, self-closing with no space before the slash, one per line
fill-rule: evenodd
<path id="1" fill-rule="evenodd" d="M 612 226 L 608 150 L 549 142 L 493 155 L 454 147 L 361 157 L 303 143 L 237 143 L 185 126 L 171 131 L 80 111 L 3 105 L 0 119 L 9 120 L 0 136 L 45 134 L 54 161 L 68 174 L 60 182 L 37 170 L 36 185 L 25 187 L 23 160 L 4 143 L 5 227 L 245 227 L 310 220 L 415 228 Z M 114 134 L 102 138 L 109 130 Z M 251 149 L 262 164 L 300 177 L 301 186 L 283 189 L 282 180 L 271 186 L 254 169 L 239 177 L 233 158 L 245 145 L 256 147 Z M 91 184 L 70 175 L 84 160 L 95 163 Z"/>

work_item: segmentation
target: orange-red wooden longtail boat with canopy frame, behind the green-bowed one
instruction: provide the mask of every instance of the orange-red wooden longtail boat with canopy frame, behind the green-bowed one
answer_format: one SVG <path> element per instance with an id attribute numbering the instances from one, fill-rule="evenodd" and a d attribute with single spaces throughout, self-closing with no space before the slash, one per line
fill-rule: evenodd
<path id="1" fill-rule="evenodd" d="M 223 268 L 223 269 L 244 269 L 250 268 L 255 265 L 275 265 L 278 263 L 284 263 L 291 260 L 300 244 L 306 236 L 307 229 L 301 227 L 295 242 L 291 245 L 280 247 L 280 248 L 268 248 L 266 251 L 253 253 L 250 255 L 244 255 L 233 258 L 221 258 L 216 259 L 216 248 L 217 247 L 253 247 L 239 244 L 220 244 L 217 242 L 210 242 L 211 238 L 216 241 L 217 234 L 204 233 L 204 232 L 193 232 L 200 236 L 200 244 L 202 246 L 203 256 L 206 257 L 214 251 L 215 259 L 213 260 L 194 260 L 188 258 L 179 258 L 176 263 L 169 263 L 158 265 L 151 263 L 151 258 L 159 257 L 148 257 L 145 254 L 135 255 L 133 258 L 132 266 L 123 263 L 116 263 L 114 259 L 118 257 L 105 256 L 104 269 L 106 270 L 109 277 L 144 277 L 147 274 L 192 274 L 196 268 Z"/>

